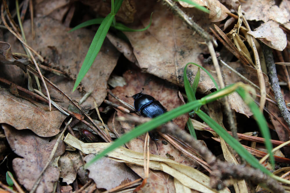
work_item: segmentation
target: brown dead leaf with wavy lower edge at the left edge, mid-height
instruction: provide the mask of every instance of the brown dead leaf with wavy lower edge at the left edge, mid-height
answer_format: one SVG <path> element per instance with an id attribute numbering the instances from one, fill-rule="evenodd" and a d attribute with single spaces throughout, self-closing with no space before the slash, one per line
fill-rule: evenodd
<path id="1" fill-rule="evenodd" d="M 59 133 L 66 115 L 57 111 L 44 110 L 31 102 L 15 97 L 0 89 L 0 123 L 7 123 L 18 130 L 30 129 L 41 137 Z"/>

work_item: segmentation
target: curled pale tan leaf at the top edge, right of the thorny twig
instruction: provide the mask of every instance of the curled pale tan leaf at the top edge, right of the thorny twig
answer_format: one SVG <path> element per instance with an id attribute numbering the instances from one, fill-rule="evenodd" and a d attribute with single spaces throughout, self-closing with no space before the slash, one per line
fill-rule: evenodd
<path id="1" fill-rule="evenodd" d="M 211 19 L 211 22 L 222 21 L 222 20 L 226 19 L 226 17 L 228 16 L 228 14 L 226 14 L 226 13 L 231 12 L 230 10 L 228 10 L 228 8 L 226 8 L 218 0 L 206 0 L 206 1 L 204 1 L 204 0 L 191 0 L 191 1 L 197 3 L 201 6 L 205 6 L 210 10 L 209 19 Z M 189 8 L 195 7 L 194 5 L 190 5 L 184 1 L 178 1 L 178 2 L 180 3 L 180 5 L 182 5 L 183 7 L 186 7 L 186 8 L 187 7 L 189 7 Z"/>

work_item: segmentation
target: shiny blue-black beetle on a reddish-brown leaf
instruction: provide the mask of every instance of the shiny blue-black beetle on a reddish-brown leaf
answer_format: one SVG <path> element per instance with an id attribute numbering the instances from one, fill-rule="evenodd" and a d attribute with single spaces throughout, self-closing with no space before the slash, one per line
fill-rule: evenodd
<path id="1" fill-rule="evenodd" d="M 142 89 L 144 90 L 144 88 Z M 126 97 L 128 96 L 126 95 Z M 135 111 L 130 111 L 130 113 L 140 111 L 144 117 L 154 118 L 167 112 L 158 100 L 150 95 L 143 94 L 142 91 L 131 97 L 134 99 Z"/>

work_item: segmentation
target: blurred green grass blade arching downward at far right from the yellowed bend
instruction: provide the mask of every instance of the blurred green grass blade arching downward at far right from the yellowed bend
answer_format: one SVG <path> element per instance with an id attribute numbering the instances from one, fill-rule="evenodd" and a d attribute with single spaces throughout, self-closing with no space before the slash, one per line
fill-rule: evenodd
<path id="1" fill-rule="evenodd" d="M 237 93 L 242 97 L 242 99 L 247 103 L 249 108 L 251 109 L 251 112 L 254 115 L 254 118 L 260 128 L 260 132 L 262 134 L 262 137 L 265 139 L 265 146 L 268 150 L 268 153 L 270 154 L 269 159 L 272 167 L 275 167 L 275 159 L 272 153 L 273 145 L 271 143 L 271 135 L 268 128 L 267 121 L 264 117 L 264 115 L 261 113 L 258 105 L 255 104 L 255 102 L 252 99 L 247 99 L 247 93 L 242 88 L 236 89 Z M 246 101 L 248 100 L 248 101 Z"/>

